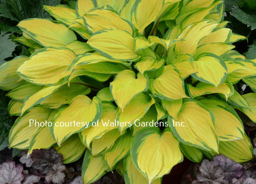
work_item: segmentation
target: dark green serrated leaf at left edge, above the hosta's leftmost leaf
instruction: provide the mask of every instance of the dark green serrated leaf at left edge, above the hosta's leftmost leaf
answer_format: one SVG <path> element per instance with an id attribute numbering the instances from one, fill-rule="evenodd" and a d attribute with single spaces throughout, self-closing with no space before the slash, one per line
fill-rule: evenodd
<path id="1" fill-rule="evenodd" d="M 0 65 L 4 59 L 11 57 L 16 44 L 10 39 L 10 34 L 0 34 Z"/>

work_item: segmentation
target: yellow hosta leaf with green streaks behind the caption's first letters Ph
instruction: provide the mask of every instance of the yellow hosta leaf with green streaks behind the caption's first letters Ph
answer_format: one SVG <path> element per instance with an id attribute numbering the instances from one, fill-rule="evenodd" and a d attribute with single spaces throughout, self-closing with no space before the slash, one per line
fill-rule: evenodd
<path id="1" fill-rule="evenodd" d="M 15 120 L 9 134 L 10 147 L 21 150 L 29 148 L 30 141 L 40 128 L 40 124 L 35 122 L 45 122 L 50 113 L 51 109 L 35 107 Z"/>

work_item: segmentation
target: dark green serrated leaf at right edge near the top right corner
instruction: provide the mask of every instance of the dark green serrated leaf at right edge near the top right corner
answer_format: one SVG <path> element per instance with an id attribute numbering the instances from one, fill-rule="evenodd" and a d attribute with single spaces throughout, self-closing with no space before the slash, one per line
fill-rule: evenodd
<path id="1" fill-rule="evenodd" d="M 241 21 L 243 24 L 246 24 L 248 27 L 251 27 L 251 30 L 254 30 L 256 28 L 256 15 L 248 14 L 236 6 L 232 8 L 231 14 L 233 15 L 233 17 Z"/>

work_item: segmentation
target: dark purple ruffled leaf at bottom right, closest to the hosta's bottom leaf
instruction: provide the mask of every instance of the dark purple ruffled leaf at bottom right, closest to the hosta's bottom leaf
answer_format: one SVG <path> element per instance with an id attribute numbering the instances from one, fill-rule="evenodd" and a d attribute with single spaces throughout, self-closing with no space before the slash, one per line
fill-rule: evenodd
<path id="1" fill-rule="evenodd" d="M 223 183 L 228 184 L 224 180 L 223 170 L 217 164 L 213 164 L 213 161 L 203 160 L 199 167 L 199 173 L 196 174 L 198 180 L 193 181 L 193 184 L 197 183 Z"/>

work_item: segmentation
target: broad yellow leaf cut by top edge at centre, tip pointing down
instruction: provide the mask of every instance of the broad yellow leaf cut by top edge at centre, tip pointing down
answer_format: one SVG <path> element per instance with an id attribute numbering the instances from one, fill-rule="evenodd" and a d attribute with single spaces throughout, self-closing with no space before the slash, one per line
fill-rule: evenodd
<path id="1" fill-rule="evenodd" d="M 155 21 L 163 4 L 163 0 L 140 0 L 135 2 L 132 11 L 132 23 L 138 28 L 139 33 L 142 34 L 146 26 Z"/>

